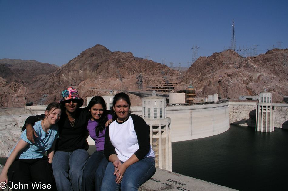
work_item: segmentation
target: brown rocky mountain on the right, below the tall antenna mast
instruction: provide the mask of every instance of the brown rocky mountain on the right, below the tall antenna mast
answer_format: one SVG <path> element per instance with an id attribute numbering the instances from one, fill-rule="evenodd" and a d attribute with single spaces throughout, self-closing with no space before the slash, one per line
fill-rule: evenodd
<path id="1" fill-rule="evenodd" d="M 177 89 L 190 84 L 198 97 L 219 93 L 222 98 L 259 95 L 266 89 L 273 101 L 288 95 L 288 49 L 273 49 L 265 54 L 243 58 L 232 50 L 200 57 L 189 68 Z"/>

